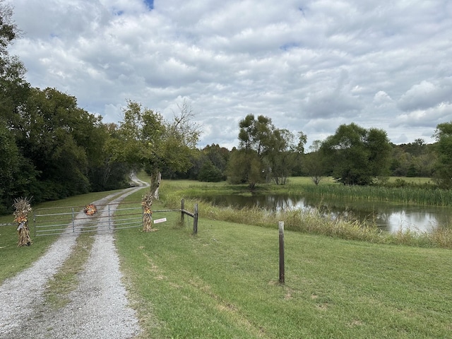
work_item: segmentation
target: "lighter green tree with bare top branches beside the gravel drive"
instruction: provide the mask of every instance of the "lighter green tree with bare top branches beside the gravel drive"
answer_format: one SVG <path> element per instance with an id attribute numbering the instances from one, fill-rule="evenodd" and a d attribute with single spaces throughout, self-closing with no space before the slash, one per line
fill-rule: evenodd
<path id="1" fill-rule="evenodd" d="M 180 112 L 174 114 L 173 121 L 165 121 L 159 112 L 129 101 L 117 138 L 108 145 L 115 160 L 144 167 L 156 192 L 162 171 L 184 172 L 191 167 L 191 155 L 201 134 L 186 101 L 178 107 Z"/>

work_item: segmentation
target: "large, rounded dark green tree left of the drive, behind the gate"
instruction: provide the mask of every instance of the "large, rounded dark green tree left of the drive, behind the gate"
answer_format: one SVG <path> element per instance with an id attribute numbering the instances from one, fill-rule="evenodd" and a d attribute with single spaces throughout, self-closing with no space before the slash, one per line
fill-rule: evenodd
<path id="1" fill-rule="evenodd" d="M 90 191 L 88 166 L 96 163 L 102 150 L 101 139 L 95 138 L 100 118 L 77 107 L 75 97 L 53 88 L 35 88 L 22 119 L 18 145 L 40 172 L 35 198 L 57 199 Z"/>

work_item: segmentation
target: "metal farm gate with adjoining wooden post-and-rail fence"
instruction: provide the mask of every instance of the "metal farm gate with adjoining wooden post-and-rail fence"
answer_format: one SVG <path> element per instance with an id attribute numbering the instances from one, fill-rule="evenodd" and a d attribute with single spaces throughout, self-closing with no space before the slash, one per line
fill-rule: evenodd
<path id="1" fill-rule="evenodd" d="M 136 206 L 139 204 L 139 206 Z M 125 206 L 131 207 L 125 207 Z M 46 235 L 79 234 L 83 232 L 99 232 L 108 230 L 121 230 L 143 226 L 143 206 L 141 202 L 113 203 L 96 205 L 97 213 L 86 215 L 82 206 L 68 208 L 37 208 L 33 215 L 34 235 L 42 237 Z M 54 210 L 58 213 L 52 213 Z M 61 212 L 63 210 L 63 212 Z M 195 212 L 184 210 L 184 199 L 181 201 L 181 209 L 153 210 L 153 213 L 180 212 L 181 222 L 184 215 L 194 218 L 194 234 L 198 232 L 198 205 Z"/>

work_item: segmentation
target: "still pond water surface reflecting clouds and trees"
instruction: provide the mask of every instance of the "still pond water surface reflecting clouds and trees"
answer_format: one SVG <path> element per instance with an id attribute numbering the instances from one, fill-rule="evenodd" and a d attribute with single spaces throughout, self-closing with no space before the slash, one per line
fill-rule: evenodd
<path id="1" fill-rule="evenodd" d="M 199 198 L 199 197 L 198 197 Z M 202 196 L 203 200 L 217 206 L 258 207 L 272 212 L 287 209 L 304 211 L 319 210 L 324 215 L 334 218 L 349 217 L 358 220 L 374 220 L 382 230 L 396 232 L 410 229 L 429 232 L 435 227 L 451 227 L 452 208 L 436 206 L 404 206 L 389 203 L 328 201 L 318 196 L 266 195 L 236 196 L 215 195 Z"/>

